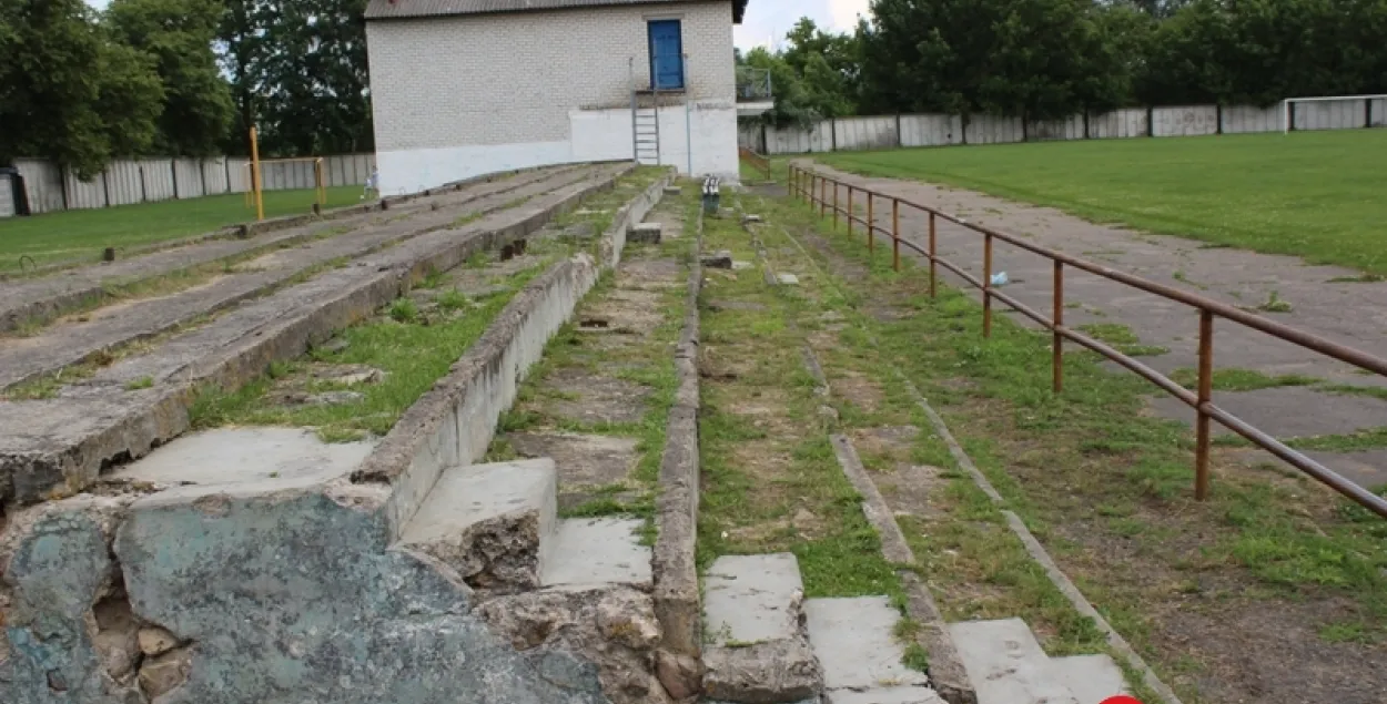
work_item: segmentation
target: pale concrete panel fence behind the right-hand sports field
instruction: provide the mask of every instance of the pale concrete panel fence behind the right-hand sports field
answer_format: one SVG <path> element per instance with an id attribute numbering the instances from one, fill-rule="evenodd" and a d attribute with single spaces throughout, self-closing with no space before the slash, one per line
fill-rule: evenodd
<path id="1" fill-rule="evenodd" d="M 1387 126 L 1387 98 L 1358 98 L 1293 105 L 1295 130 Z M 825 119 L 803 127 L 742 126 L 741 147 L 760 154 L 1001 144 L 1015 141 L 1097 140 L 1123 137 L 1193 137 L 1282 132 L 1280 104 L 1268 108 L 1182 105 L 1122 108 L 1061 121 L 1022 121 L 994 115 L 878 115 Z"/>

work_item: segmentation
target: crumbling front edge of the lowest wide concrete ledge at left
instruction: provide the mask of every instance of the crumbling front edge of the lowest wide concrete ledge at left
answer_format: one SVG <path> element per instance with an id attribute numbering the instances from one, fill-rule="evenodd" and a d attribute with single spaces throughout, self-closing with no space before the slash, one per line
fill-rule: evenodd
<path id="1" fill-rule="evenodd" d="M 255 335 L 248 345 L 214 364 L 187 374 L 178 384 L 140 394 L 117 423 L 86 435 L 79 442 L 43 450 L 0 455 L 0 502 L 28 504 L 51 492 L 74 495 L 97 479 L 114 459 L 135 460 L 155 446 L 186 432 L 189 407 L 204 387 L 234 389 L 259 376 L 272 362 L 293 359 L 330 338 L 337 330 L 370 316 L 380 306 L 409 291 L 430 270 L 449 270 L 479 251 L 497 249 L 538 230 L 553 216 L 574 208 L 587 195 L 610 188 L 630 170 L 620 169 L 595 177 L 588 186 L 506 227 L 483 230 L 434 248 L 412 262 L 387 267 L 369 279 L 352 281 L 331 299 L 311 310 L 286 315 L 273 327 Z M 311 284 L 308 281 L 308 284 Z M 401 421 L 404 423 L 404 420 Z M 397 428 L 399 424 L 397 424 Z"/>

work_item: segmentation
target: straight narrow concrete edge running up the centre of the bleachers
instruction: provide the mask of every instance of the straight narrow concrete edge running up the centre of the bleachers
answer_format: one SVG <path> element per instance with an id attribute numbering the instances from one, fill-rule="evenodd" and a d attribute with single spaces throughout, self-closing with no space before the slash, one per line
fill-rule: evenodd
<path id="1" fill-rule="evenodd" d="M 664 432 L 660 457 L 656 539 L 651 561 L 655 578 L 655 614 L 664 632 L 662 651 L 700 661 L 703 607 L 698 581 L 699 507 L 699 292 L 703 285 L 703 213 L 696 220 L 695 252 L 684 299 L 684 326 L 674 348 L 677 391 Z M 667 655 L 667 657 L 669 657 Z M 700 669 L 700 668 L 691 668 Z M 702 672 L 698 674 L 702 682 Z M 671 692 L 682 683 L 666 682 Z"/>

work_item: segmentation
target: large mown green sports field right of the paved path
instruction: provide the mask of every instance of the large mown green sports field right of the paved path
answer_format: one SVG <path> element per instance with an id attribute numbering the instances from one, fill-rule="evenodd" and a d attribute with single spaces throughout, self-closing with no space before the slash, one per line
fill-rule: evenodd
<path id="1" fill-rule="evenodd" d="M 816 155 L 871 176 L 1387 274 L 1387 130 Z"/>

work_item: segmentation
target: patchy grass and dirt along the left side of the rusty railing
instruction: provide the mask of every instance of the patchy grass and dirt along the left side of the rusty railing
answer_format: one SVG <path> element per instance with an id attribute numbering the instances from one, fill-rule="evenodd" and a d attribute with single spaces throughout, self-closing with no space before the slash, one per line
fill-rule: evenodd
<path id="1" fill-rule="evenodd" d="M 1289 687 L 1337 701 L 1387 685 L 1369 665 L 1387 654 L 1387 522 L 1223 450 L 1214 496 L 1196 502 L 1191 434 L 1143 413 L 1148 385 L 1076 353 L 1054 398 L 1047 338 L 999 316 L 985 340 L 978 303 L 950 288 L 931 301 L 927 274 L 892 272 L 889 249 L 868 258 L 860 237 L 832 234 L 807 206 L 763 209 L 822 244 L 816 256 L 846 272 L 877 352 L 911 377 L 1007 506 L 1187 704 L 1272 701 L 1266 693 Z M 900 522 L 942 607 L 951 618 L 1026 618 L 1051 654 L 1100 649 L 938 449 L 932 438 L 914 449 L 914 461 L 942 470 L 927 502 L 938 513 Z M 877 468 L 870 453 L 864 461 Z"/>

